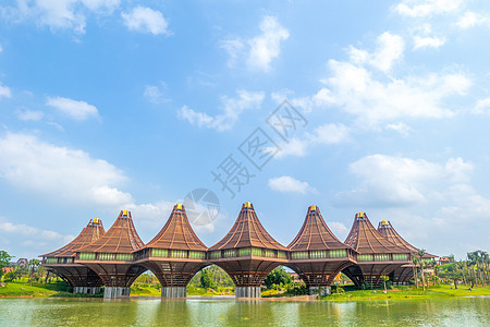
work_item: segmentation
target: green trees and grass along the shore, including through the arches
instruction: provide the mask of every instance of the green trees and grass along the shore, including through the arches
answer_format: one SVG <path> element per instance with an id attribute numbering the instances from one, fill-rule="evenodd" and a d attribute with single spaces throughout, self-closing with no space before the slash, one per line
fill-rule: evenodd
<path id="1" fill-rule="evenodd" d="M 490 295 L 490 261 L 487 252 L 475 251 L 467 254 L 465 261 L 455 262 L 450 256 L 450 263 L 444 265 L 426 265 L 418 255 L 415 264 L 420 267 L 412 282 L 414 286 L 393 286 L 384 276 L 383 286 L 373 289 L 365 284 L 362 289 L 335 281 L 331 294 L 323 296 L 328 301 L 360 301 L 381 299 L 421 299 L 439 296 Z M 47 296 L 83 296 L 101 298 L 98 294 L 73 294 L 72 288 L 59 276 L 56 276 L 39 261 L 28 261 L 28 266 L 9 265 L 10 256 L 0 251 L 0 268 L 9 267 L 3 274 L 0 269 L 0 298 L 47 298 Z M 425 274 L 433 270 L 433 274 Z M 3 276 L 2 276 L 3 275 Z M 139 276 L 131 287 L 132 296 L 160 296 L 161 284 L 151 272 Z M 266 278 L 261 295 L 264 298 L 285 298 L 307 295 L 308 289 L 303 281 L 293 280 L 292 275 L 283 267 L 272 270 Z M 230 276 L 216 265 L 208 266 L 197 272 L 187 286 L 187 295 L 215 296 L 234 295 L 234 284 Z"/>

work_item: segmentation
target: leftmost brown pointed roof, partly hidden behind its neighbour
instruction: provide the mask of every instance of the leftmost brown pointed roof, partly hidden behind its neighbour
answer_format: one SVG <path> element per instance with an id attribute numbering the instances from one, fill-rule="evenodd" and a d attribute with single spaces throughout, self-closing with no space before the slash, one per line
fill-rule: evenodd
<path id="1" fill-rule="evenodd" d="M 54 256 L 54 257 L 68 257 L 75 256 L 75 252 L 97 241 L 106 231 L 103 230 L 102 220 L 94 218 L 88 221 L 88 225 L 81 231 L 81 233 L 70 243 L 53 252 L 42 254 L 40 256 Z"/>

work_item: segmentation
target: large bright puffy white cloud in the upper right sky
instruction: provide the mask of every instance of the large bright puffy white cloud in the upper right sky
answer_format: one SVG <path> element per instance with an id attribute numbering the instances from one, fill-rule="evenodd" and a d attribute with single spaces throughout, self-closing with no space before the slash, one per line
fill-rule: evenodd
<path id="1" fill-rule="evenodd" d="M 324 81 L 329 87 L 318 93 L 329 95 L 331 102 L 324 105 L 341 107 L 367 126 L 403 117 L 450 117 L 453 112 L 445 106 L 445 98 L 465 95 L 471 85 L 462 73 L 384 81 L 350 62 L 330 60 L 329 68 L 332 75 Z"/>

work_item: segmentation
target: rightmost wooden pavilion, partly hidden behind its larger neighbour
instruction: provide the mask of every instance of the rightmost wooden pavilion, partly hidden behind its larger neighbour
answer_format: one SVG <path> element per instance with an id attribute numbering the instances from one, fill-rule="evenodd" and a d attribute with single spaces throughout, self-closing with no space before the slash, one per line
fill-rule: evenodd
<path id="1" fill-rule="evenodd" d="M 413 246 L 411 243 L 405 241 L 391 226 L 391 222 L 388 220 L 382 220 L 378 225 L 378 231 L 381 235 L 383 235 L 388 241 L 399 246 L 405 247 L 413 255 L 418 253 L 418 249 Z M 422 259 L 433 259 L 437 255 L 426 253 L 422 256 Z M 408 283 L 411 278 L 414 277 L 414 264 L 411 262 L 409 264 L 403 265 L 400 268 L 393 270 L 390 274 L 390 280 L 395 283 Z"/>

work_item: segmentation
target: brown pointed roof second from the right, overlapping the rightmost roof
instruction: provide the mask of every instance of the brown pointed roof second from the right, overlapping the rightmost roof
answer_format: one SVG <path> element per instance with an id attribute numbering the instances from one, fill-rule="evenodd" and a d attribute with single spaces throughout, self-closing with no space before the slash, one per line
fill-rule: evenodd
<path id="1" fill-rule="evenodd" d="M 360 254 L 409 252 L 406 247 L 395 245 L 381 235 L 369 221 L 366 213 L 356 214 L 344 243 Z"/>

